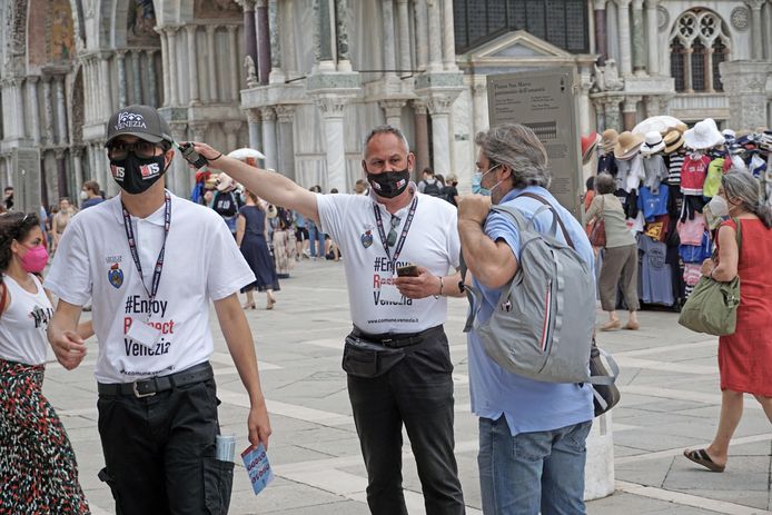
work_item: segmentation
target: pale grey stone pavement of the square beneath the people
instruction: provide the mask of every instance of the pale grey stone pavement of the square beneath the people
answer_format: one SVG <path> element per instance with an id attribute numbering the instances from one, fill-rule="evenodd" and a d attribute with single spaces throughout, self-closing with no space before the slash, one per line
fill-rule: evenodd
<path id="1" fill-rule="evenodd" d="M 276 479 L 256 497 L 244 467 L 237 465 L 230 513 L 367 514 L 366 474 L 340 369 L 342 341 L 350 327 L 343 264 L 303 261 L 290 279 L 281 281 L 273 311 L 247 313 L 271 414 L 268 454 Z M 258 298 L 261 305 L 264 298 Z M 461 331 L 466 300 L 449 304 L 446 329 L 456 365 L 456 456 L 467 513 L 475 514 L 482 513 L 477 424 L 469 414 L 466 340 Z M 222 433 L 236 434 L 240 450 L 247 446 L 247 396 L 211 313 Z M 772 427 L 752 398 L 726 472 L 710 473 L 682 456 L 685 447 L 711 440 L 720 393 L 716 338 L 690 333 L 676 318 L 673 313 L 643 311 L 640 331 L 600 335 L 600 345 L 615 355 L 622 368 L 623 397 L 613 410 L 616 493 L 588 503 L 588 513 L 772 514 Z M 96 354 L 95 347 L 75 372 L 49 364 L 43 389 L 70 435 L 93 513 L 107 514 L 113 513 L 112 498 L 97 478 L 103 462 L 91 375 Z M 405 496 L 410 514 L 420 514 L 420 485 L 405 442 Z"/>

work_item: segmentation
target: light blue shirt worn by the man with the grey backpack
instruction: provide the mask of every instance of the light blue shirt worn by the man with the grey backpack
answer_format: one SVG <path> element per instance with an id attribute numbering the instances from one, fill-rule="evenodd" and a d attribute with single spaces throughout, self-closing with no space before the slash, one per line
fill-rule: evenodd
<path id="1" fill-rule="evenodd" d="M 593 277 L 595 277 L 593 249 L 584 228 L 546 189 L 535 186 L 514 189 L 502 199 L 499 205 L 507 204 L 517 207 L 526 219 L 532 219 L 534 212 L 543 204 L 528 197 L 513 200 L 525 191 L 538 195 L 555 208 L 566 226 L 576 251 L 593 269 Z M 535 219 L 535 228 L 540 232 L 547 232 L 552 227 L 552 211 L 542 211 Z M 519 264 L 519 234 L 508 217 L 491 214 L 485 221 L 485 234 L 493 240 L 504 240 Z M 560 226 L 556 237 L 558 240 L 565 241 Z M 483 294 L 483 303 L 477 319 L 484 321 L 491 317 L 504 288 L 486 288 L 476 279 L 474 285 Z M 512 436 L 518 433 L 558 429 L 593 418 L 593 393 L 588 384 L 580 386 L 573 383 L 545 383 L 512 374 L 499 367 L 485 354 L 475 330 L 469 331 L 467 338 L 472 412 L 478 417 L 496 420 L 504 415 Z"/>

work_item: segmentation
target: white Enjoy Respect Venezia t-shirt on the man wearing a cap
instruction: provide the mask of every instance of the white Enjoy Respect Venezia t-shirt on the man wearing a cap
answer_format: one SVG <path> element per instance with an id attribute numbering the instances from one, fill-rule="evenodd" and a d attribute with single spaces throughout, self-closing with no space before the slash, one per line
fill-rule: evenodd
<path id="1" fill-rule="evenodd" d="M 129 383 L 206 362 L 214 349 L 209 299 L 222 299 L 255 281 L 219 215 L 172 195 L 164 269 L 149 305 L 164 216 L 161 206 L 145 219 L 132 217 L 147 290 L 129 250 L 120 196 L 73 217 L 59 242 L 46 287 L 77 306 L 92 297 L 99 383 Z M 126 337 L 130 325 L 148 321 L 148 315 L 161 333 L 156 344 Z"/>

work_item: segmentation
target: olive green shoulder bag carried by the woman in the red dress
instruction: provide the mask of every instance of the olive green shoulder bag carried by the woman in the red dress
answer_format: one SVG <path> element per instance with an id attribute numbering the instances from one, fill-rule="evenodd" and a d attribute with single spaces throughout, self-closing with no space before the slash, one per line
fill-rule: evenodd
<path id="1" fill-rule="evenodd" d="M 742 226 L 733 219 L 738 228 L 738 251 L 742 245 Z M 740 276 L 729 283 L 710 277 L 701 277 L 692 295 L 681 308 L 679 324 L 696 333 L 713 336 L 734 334 L 740 305 Z"/>

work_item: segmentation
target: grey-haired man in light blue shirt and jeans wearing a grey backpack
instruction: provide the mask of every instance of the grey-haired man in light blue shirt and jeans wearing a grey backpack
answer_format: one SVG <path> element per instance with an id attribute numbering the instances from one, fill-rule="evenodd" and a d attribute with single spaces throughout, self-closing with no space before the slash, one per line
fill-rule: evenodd
<path id="1" fill-rule="evenodd" d="M 546 151 L 531 129 L 507 123 L 475 142 L 483 195 L 461 197 L 458 232 L 475 297 L 467 325 L 483 512 L 583 514 L 593 250 L 547 191 Z"/>

